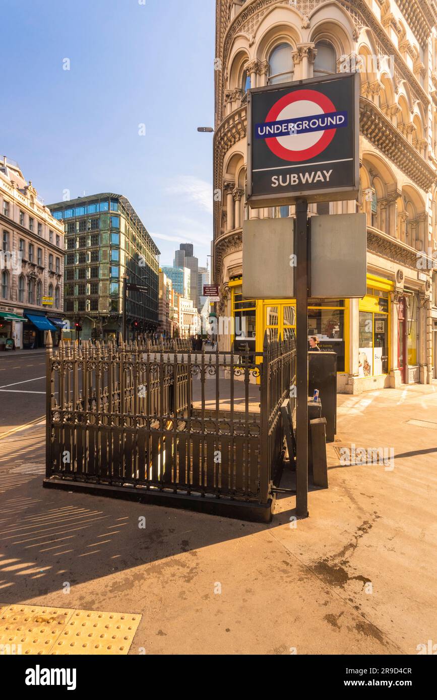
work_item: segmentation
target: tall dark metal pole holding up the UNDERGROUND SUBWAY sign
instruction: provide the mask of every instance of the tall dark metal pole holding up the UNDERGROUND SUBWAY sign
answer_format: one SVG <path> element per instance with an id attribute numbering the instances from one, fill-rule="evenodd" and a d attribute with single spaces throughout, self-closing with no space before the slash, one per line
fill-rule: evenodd
<path id="1" fill-rule="evenodd" d="M 296 513 L 308 514 L 308 202 L 296 202 Z"/>

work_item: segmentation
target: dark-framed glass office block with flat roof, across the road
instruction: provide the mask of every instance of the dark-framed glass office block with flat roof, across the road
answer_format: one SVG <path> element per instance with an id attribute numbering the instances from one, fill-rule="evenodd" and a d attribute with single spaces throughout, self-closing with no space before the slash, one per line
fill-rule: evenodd
<path id="1" fill-rule="evenodd" d="M 147 292 L 127 291 L 127 337 L 158 328 L 160 251 L 123 195 L 102 193 L 51 204 L 65 231 L 64 312 L 80 318 L 83 339 L 116 339 L 123 327 L 123 276 Z"/>

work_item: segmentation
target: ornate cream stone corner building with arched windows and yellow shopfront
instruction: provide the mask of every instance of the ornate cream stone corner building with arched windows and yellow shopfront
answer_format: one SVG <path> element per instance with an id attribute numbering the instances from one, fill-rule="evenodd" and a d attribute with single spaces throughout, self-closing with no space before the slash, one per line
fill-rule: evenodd
<path id="1" fill-rule="evenodd" d="M 310 300 L 308 330 L 337 351 L 339 391 L 436 377 L 436 23 L 433 0 L 217 0 L 213 269 L 218 316 L 232 319 L 221 349 L 294 328 L 293 300 L 242 298 L 244 218 L 294 216 L 245 204 L 247 89 L 359 71 L 359 197 L 310 216 L 366 213 L 367 294 Z"/>

